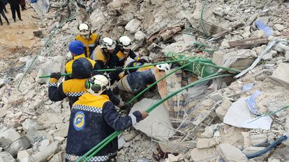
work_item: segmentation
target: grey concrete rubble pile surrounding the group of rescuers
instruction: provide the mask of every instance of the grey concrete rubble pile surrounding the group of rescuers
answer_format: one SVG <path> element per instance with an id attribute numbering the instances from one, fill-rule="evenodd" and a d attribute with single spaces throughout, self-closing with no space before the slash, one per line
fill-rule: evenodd
<path id="1" fill-rule="evenodd" d="M 119 136 L 118 161 L 289 161 L 289 140 L 249 158 L 289 136 L 288 1 L 81 1 L 92 10 L 71 2 L 71 19 L 66 2 L 50 1 L 38 23 L 38 55 L 17 55 L 15 65 L 22 69 L 0 73 L 0 161 L 64 160 L 68 101 L 51 102 L 48 80 L 38 76 L 64 72 L 80 22 L 101 36 L 128 35 L 133 49 L 154 62 L 171 52 L 240 71 L 251 67 L 202 86 L 183 118 L 171 118 L 168 103 L 159 106 Z M 147 108 L 162 97 L 158 92 L 148 92 L 132 109 Z"/>

